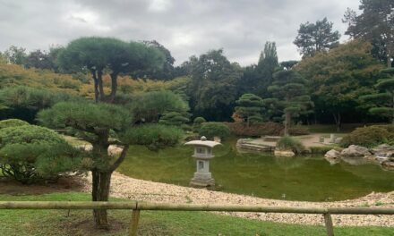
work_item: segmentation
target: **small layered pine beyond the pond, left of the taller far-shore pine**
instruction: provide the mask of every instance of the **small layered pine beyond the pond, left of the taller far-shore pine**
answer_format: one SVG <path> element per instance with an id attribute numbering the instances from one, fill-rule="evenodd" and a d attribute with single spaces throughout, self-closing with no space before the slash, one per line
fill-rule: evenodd
<path id="1" fill-rule="evenodd" d="M 261 112 L 263 110 L 263 102 L 261 97 L 254 94 L 244 94 L 236 100 L 236 114 L 246 120 L 246 126 L 249 127 L 250 122 L 261 122 Z"/>

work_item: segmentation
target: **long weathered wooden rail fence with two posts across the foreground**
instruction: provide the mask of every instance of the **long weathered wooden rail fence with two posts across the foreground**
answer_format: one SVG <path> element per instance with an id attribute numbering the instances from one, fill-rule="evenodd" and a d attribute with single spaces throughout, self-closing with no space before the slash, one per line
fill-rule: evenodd
<path id="1" fill-rule="evenodd" d="M 394 208 L 384 207 L 279 207 L 239 205 L 192 205 L 149 202 L 91 202 L 91 201 L 0 201 L 1 209 L 129 209 L 133 210 L 130 235 L 137 235 L 141 210 L 150 211 L 216 211 L 216 212 L 261 212 L 323 215 L 327 235 L 333 236 L 331 215 L 394 215 Z"/>

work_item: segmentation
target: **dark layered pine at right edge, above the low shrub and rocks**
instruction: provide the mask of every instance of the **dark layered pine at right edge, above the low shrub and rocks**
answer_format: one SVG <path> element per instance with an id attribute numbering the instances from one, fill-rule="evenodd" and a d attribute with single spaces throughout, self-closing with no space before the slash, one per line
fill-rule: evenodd
<path id="1" fill-rule="evenodd" d="M 369 109 L 371 114 L 388 117 L 394 124 L 394 69 L 383 69 L 381 75 L 383 79 L 378 80 L 375 85 L 381 92 L 364 95 L 360 99 L 372 106 Z"/>

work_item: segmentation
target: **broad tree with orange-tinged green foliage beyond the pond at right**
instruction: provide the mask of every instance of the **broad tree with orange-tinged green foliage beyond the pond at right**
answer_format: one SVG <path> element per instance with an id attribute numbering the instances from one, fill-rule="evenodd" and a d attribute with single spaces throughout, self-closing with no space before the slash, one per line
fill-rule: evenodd
<path id="1" fill-rule="evenodd" d="M 371 49 L 370 44 L 355 40 L 327 54 L 304 58 L 295 66 L 310 81 L 315 114 L 333 117 L 338 130 L 344 114 L 356 113 L 358 97 L 373 90 L 381 63 Z"/>

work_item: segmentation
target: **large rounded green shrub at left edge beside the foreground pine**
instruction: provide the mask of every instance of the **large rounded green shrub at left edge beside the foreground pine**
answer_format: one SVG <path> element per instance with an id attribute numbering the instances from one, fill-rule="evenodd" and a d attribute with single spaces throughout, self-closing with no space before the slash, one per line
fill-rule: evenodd
<path id="1" fill-rule="evenodd" d="M 76 169 L 79 153 L 59 134 L 35 125 L 0 130 L 0 170 L 22 183 Z"/>

